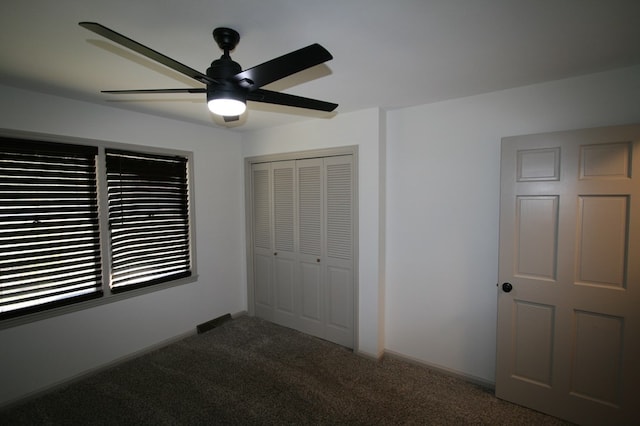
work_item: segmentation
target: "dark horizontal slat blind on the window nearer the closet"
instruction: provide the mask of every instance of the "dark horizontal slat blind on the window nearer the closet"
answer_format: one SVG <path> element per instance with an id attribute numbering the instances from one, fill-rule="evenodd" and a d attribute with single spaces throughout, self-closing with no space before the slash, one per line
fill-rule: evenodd
<path id="1" fill-rule="evenodd" d="M 191 275 L 187 159 L 106 150 L 114 292 Z"/>

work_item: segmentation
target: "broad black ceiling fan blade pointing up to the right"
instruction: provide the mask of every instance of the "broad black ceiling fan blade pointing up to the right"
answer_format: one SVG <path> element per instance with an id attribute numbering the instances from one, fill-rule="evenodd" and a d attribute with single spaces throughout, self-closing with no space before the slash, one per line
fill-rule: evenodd
<path id="1" fill-rule="evenodd" d="M 331 59 L 331 53 L 315 43 L 239 72 L 233 79 L 254 90 Z"/>

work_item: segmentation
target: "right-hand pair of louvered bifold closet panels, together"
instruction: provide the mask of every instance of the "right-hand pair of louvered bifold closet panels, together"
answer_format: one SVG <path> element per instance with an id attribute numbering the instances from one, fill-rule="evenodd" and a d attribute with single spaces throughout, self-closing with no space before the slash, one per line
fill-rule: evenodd
<path id="1" fill-rule="evenodd" d="M 353 346 L 353 170 L 350 155 L 296 161 L 298 329 Z"/>

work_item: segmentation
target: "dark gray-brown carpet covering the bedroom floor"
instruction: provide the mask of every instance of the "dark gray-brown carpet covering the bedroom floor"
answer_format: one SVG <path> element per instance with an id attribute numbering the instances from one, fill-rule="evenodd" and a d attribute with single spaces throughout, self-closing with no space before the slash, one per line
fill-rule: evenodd
<path id="1" fill-rule="evenodd" d="M 0 411 L 2 425 L 564 425 L 396 358 L 250 317 Z"/>

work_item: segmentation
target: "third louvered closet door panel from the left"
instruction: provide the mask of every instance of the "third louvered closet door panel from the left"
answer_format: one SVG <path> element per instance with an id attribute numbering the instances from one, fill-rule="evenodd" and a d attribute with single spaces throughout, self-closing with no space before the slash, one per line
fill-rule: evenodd
<path id="1" fill-rule="evenodd" d="M 298 160 L 299 329 L 325 337 L 323 161 Z"/>

